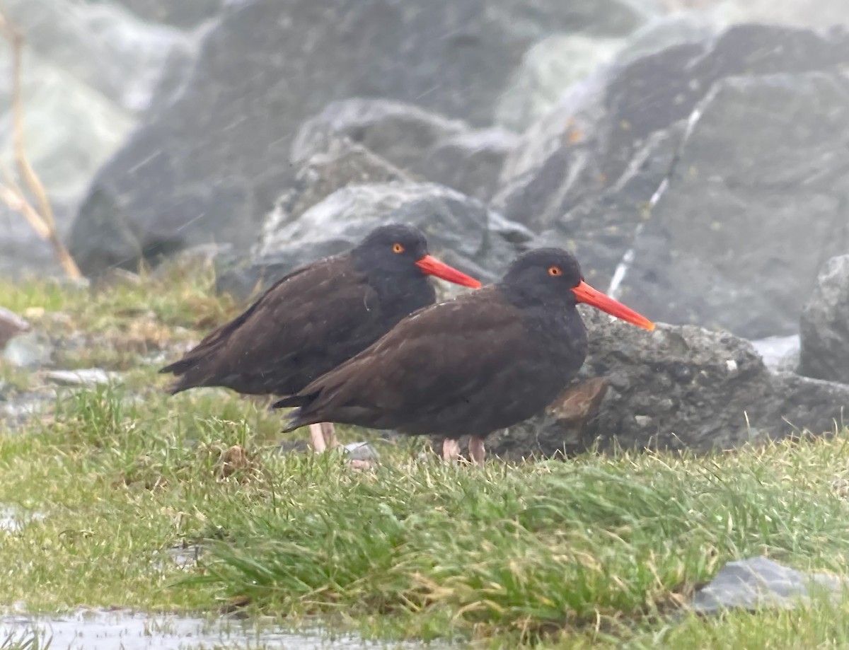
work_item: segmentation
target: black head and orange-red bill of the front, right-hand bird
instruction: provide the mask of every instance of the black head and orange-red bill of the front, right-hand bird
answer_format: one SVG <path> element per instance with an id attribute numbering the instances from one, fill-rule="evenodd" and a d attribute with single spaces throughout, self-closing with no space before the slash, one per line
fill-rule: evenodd
<path id="1" fill-rule="evenodd" d="M 581 266 L 563 249 L 534 249 L 510 265 L 498 284 L 508 299 L 518 306 L 561 305 L 575 307 L 579 302 L 621 318 L 641 328 L 655 324 L 613 300 L 583 280 Z"/>

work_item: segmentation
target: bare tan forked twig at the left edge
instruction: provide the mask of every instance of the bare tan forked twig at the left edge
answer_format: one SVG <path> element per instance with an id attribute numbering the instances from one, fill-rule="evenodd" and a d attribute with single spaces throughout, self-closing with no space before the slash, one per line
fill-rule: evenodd
<path id="1" fill-rule="evenodd" d="M 20 212 L 39 237 L 48 241 L 53 247 L 59 262 L 65 270 L 65 274 L 73 279 L 82 277 L 82 273 L 74 258 L 70 256 L 65 244 L 59 238 L 56 231 L 56 221 L 53 218 L 53 208 L 48 199 L 42 182 L 33 171 L 30 161 L 26 157 L 24 146 L 24 102 L 21 91 L 21 67 L 24 54 L 24 34 L 20 28 L 8 19 L 4 8 L 0 6 L 0 33 L 12 47 L 12 119 L 13 119 L 13 144 L 14 163 L 18 170 L 18 176 L 22 179 L 25 188 L 36 199 L 37 207 L 27 199 L 24 188 L 15 182 L 14 177 L 5 166 L 3 167 L 3 184 L 0 186 L 0 200 L 9 208 Z"/>

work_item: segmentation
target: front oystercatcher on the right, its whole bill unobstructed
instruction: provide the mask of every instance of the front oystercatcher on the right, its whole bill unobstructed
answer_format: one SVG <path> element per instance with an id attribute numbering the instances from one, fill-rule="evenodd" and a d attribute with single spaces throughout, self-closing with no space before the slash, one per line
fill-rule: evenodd
<path id="1" fill-rule="evenodd" d="M 583 281 L 572 255 L 535 249 L 501 282 L 418 311 L 377 343 L 274 406 L 299 406 L 289 431 L 338 422 L 404 434 L 441 434 L 443 456 L 540 412 L 587 356 L 579 302 L 654 329 L 654 323 Z"/>

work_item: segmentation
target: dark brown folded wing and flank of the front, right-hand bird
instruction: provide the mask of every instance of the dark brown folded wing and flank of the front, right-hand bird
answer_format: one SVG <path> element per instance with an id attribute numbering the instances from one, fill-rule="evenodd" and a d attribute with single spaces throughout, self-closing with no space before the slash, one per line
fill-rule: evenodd
<path id="1" fill-rule="evenodd" d="M 301 406 L 287 430 L 338 422 L 485 435 L 509 426 L 556 396 L 535 381 L 545 349 L 528 334 L 520 312 L 492 286 L 426 307 L 282 401 Z"/>

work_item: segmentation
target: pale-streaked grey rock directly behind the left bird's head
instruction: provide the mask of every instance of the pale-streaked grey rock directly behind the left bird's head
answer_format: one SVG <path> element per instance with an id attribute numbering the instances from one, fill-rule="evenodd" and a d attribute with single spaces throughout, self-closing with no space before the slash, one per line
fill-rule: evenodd
<path id="1" fill-rule="evenodd" d="M 350 249 L 372 228 L 390 221 L 421 228 L 433 255 L 482 282 L 500 277 L 532 238 L 526 228 L 480 201 L 435 183 L 351 185 L 295 221 L 271 218 L 278 226 L 264 229 L 250 265 L 222 266 L 219 290 L 245 295 L 256 286 L 267 287 L 299 266 Z M 441 289 L 449 289 L 444 284 Z"/>

